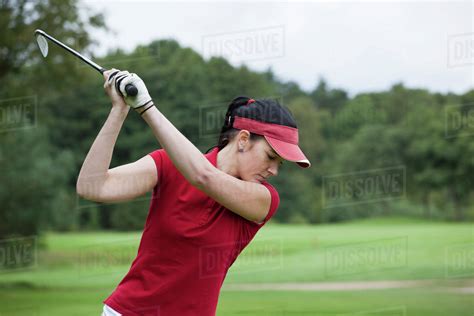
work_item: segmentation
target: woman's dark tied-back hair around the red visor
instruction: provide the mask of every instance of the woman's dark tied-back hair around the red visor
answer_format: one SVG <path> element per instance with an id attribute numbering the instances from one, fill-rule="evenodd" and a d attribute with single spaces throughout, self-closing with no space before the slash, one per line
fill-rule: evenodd
<path id="1" fill-rule="evenodd" d="M 250 102 L 249 102 L 250 101 Z M 253 102 L 252 102 L 253 101 Z M 236 97 L 229 104 L 224 118 L 217 147 L 224 148 L 239 132 L 233 128 L 234 117 L 244 117 L 264 123 L 273 123 L 296 128 L 296 122 L 290 111 L 272 99 L 250 99 L 249 97 Z M 263 136 L 250 133 L 250 140 L 255 141 Z"/>

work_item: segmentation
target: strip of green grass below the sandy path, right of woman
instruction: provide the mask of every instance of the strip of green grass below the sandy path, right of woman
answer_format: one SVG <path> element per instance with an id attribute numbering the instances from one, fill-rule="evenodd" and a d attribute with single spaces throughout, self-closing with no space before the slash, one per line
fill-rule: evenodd
<path id="1" fill-rule="evenodd" d="M 436 304 L 436 306 L 433 306 Z M 217 315 L 447 316 L 474 313 L 471 296 L 429 289 L 360 292 L 222 292 Z"/>

